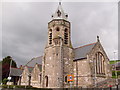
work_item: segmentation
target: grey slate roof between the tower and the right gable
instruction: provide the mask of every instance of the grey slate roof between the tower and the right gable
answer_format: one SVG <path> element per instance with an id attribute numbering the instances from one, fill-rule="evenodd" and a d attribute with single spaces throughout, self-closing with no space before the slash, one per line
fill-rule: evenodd
<path id="1" fill-rule="evenodd" d="M 74 60 L 87 58 L 86 55 L 92 50 L 96 43 L 87 44 L 78 48 L 74 48 Z"/>

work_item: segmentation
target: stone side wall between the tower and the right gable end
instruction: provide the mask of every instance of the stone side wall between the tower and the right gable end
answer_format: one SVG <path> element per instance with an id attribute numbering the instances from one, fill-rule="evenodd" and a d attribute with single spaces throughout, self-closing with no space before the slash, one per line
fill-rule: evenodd
<path id="1" fill-rule="evenodd" d="M 74 86 L 87 87 L 91 84 L 91 71 L 87 59 L 74 61 Z"/>

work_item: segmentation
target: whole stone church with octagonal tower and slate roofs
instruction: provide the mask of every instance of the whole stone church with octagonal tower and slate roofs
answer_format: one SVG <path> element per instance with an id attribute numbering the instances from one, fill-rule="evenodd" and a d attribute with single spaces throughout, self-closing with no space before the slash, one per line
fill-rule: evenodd
<path id="1" fill-rule="evenodd" d="M 71 77 L 69 77 L 71 75 Z M 61 3 L 48 23 L 48 41 L 44 55 L 23 67 L 18 85 L 39 88 L 97 87 L 111 79 L 109 58 L 97 41 L 72 47 L 71 23 Z M 69 79 L 72 78 L 72 81 Z"/>

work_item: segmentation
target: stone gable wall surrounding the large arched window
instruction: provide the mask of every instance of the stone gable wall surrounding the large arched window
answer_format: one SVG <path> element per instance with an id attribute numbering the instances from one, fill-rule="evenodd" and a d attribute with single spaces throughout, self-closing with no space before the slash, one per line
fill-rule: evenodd
<path id="1" fill-rule="evenodd" d="M 102 55 L 104 56 L 104 70 L 105 70 L 105 74 L 96 74 L 96 79 L 95 79 L 95 54 L 96 53 L 102 53 Z M 110 69 L 110 64 L 109 64 L 109 59 L 103 49 L 103 47 L 101 46 L 100 42 L 97 42 L 97 44 L 95 45 L 95 47 L 91 50 L 91 52 L 88 54 L 88 59 L 89 59 L 89 63 L 90 63 L 90 69 L 91 69 L 91 76 L 92 76 L 92 82 L 93 84 L 99 83 L 101 81 L 104 81 L 108 78 L 111 78 L 112 74 L 111 74 L 111 69 Z"/>

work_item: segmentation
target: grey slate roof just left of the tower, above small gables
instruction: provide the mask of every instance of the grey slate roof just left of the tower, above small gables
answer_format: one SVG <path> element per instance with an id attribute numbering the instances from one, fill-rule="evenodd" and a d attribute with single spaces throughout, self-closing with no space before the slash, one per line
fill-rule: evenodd
<path id="1" fill-rule="evenodd" d="M 42 56 L 31 59 L 26 65 L 29 67 L 34 67 L 36 63 L 42 64 Z"/>

